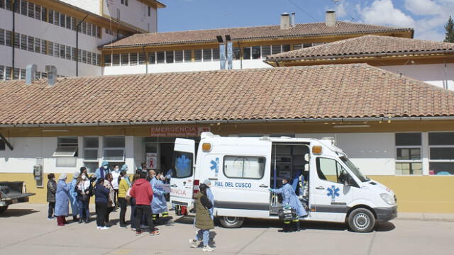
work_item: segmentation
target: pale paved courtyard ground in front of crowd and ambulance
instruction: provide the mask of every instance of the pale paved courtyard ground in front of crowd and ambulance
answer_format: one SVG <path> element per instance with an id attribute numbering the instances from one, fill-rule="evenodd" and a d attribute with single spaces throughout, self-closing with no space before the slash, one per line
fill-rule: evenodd
<path id="1" fill-rule="evenodd" d="M 129 210 L 130 208 L 128 208 Z M 92 210 L 94 211 L 94 210 Z M 111 220 L 118 219 L 119 210 Z M 70 223 L 57 227 L 47 220 L 47 205 L 22 203 L 0 215 L 0 254 L 198 254 L 189 248 L 192 217 L 174 217 L 161 225 L 160 236 L 136 237 L 114 225 L 96 229 Z M 127 217 L 129 215 L 129 211 Z M 69 219 L 70 217 L 68 217 Z M 71 222 L 71 221 L 70 221 Z M 278 221 L 248 220 L 240 229 L 218 227 L 211 232 L 215 254 L 450 254 L 454 252 L 454 222 L 393 220 L 372 233 L 358 234 L 343 225 L 303 222 L 303 230 L 279 233 Z"/>

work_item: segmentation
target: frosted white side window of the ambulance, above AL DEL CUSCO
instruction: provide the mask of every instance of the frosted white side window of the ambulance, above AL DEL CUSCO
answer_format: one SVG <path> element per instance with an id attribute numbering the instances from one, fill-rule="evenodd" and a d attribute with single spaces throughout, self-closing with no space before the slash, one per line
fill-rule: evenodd
<path id="1" fill-rule="evenodd" d="M 265 158 L 226 156 L 223 171 L 228 178 L 262 179 L 265 173 Z"/>

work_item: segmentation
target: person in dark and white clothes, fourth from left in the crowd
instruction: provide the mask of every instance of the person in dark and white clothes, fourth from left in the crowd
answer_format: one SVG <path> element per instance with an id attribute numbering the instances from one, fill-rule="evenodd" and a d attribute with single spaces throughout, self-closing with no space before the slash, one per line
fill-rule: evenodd
<path id="1" fill-rule="evenodd" d="M 79 223 L 90 220 L 89 202 L 90 196 L 93 194 L 93 186 L 87 177 L 87 174 L 82 174 L 77 179 L 77 184 L 74 188 L 77 193 L 77 204 L 79 205 Z"/>

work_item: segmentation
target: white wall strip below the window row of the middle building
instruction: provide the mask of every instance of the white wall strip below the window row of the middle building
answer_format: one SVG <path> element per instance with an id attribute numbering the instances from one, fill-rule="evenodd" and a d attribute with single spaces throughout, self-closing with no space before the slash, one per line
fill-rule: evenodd
<path id="1" fill-rule="evenodd" d="M 240 60 L 233 61 L 233 69 L 240 69 Z M 265 64 L 262 60 L 243 60 L 243 69 L 246 68 L 271 68 L 269 64 Z M 189 63 L 173 63 L 173 64 L 148 64 L 148 73 L 160 72 L 194 72 L 194 71 L 210 71 L 220 69 L 219 61 L 213 62 L 189 62 Z M 103 67 L 103 75 L 111 74 L 144 74 L 146 70 L 145 64 L 134 66 L 114 66 Z"/>

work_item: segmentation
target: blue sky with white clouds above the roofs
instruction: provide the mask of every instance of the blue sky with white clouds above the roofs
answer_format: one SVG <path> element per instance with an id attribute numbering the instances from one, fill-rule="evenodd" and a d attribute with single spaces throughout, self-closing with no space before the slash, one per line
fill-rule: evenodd
<path id="1" fill-rule="evenodd" d="M 414 28 L 416 39 L 442 41 L 454 17 L 454 0 L 160 0 L 158 32 L 278 25 L 281 13 L 297 23 L 323 22 L 336 10 L 338 21 Z"/>

